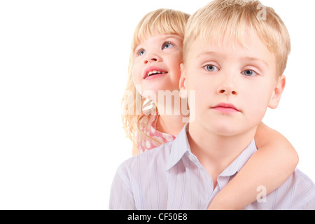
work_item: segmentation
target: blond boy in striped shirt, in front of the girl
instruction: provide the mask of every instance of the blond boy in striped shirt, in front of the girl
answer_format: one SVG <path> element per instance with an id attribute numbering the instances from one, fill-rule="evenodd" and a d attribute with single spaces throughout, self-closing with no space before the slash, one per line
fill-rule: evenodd
<path id="1" fill-rule="evenodd" d="M 212 1 L 190 18 L 180 87 L 181 97 L 194 91 L 195 120 L 119 167 L 110 209 L 207 209 L 253 155 L 258 124 L 279 104 L 290 52 L 283 22 L 271 8 L 258 18 L 260 6 Z M 245 209 L 315 209 L 314 184 L 299 170 L 259 196 Z"/>

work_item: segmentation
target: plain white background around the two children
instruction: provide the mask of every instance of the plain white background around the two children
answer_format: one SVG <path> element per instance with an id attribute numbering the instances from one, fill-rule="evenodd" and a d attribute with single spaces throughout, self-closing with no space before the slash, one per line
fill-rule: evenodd
<path id="1" fill-rule="evenodd" d="M 192 14 L 208 2 L 0 0 L 0 209 L 108 209 L 132 152 L 120 118 L 132 32 L 151 10 Z M 286 90 L 264 122 L 315 181 L 315 3 L 262 3 L 292 43 Z"/>

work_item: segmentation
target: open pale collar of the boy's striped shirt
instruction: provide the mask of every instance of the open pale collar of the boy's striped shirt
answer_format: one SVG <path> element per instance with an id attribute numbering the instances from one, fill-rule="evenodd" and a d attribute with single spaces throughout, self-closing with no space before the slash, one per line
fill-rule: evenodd
<path id="1" fill-rule="evenodd" d="M 166 171 L 174 167 L 174 165 L 176 165 L 177 162 L 183 158 L 185 153 L 191 152 L 187 138 L 188 125 L 189 123 L 186 123 L 179 135 L 174 140 L 172 150 L 169 155 L 169 160 L 167 161 Z M 225 168 L 219 176 L 232 176 L 239 172 L 241 167 L 244 167 L 245 163 L 249 160 L 249 158 L 251 158 L 255 151 L 257 151 L 257 148 L 255 146 L 255 140 L 253 139 L 251 143 L 248 144 L 248 146 L 244 149 L 244 151 L 242 151 L 241 154 L 227 168 Z"/>

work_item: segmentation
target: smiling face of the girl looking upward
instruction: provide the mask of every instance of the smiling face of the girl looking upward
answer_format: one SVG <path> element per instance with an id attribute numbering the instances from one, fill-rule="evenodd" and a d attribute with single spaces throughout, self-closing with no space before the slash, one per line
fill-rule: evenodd
<path id="1" fill-rule="evenodd" d="M 176 34 L 151 36 L 137 46 L 132 78 L 142 96 L 153 99 L 159 90 L 179 90 L 182 48 L 183 38 Z"/>

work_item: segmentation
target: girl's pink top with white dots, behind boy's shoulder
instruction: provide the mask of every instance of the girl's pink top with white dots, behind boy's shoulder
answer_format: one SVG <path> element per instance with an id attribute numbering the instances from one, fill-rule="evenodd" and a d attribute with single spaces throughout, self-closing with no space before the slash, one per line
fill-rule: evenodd
<path id="1" fill-rule="evenodd" d="M 158 123 L 158 114 L 145 116 L 139 120 L 139 129 L 143 132 L 137 132 L 136 140 L 138 144 L 139 151 L 144 153 L 155 147 L 165 144 L 169 141 L 173 141 L 176 136 L 172 134 L 167 134 L 159 132 L 156 130 L 156 125 Z M 146 136 L 148 135 L 148 136 Z M 152 139 L 151 139 L 151 138 Z M 155 139 L 155 140 L 153 140 Z"/>

